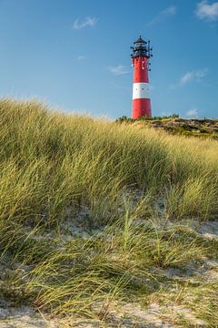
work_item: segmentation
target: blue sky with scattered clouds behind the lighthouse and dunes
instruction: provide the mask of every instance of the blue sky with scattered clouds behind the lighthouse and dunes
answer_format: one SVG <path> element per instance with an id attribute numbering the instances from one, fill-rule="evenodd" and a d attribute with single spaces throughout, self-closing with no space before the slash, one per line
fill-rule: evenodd
<path id="1" fill-rule="evenodd" d="M 154 46 L 153 115 L 218 117 L 218 2 L 0 0 L 0 96 L 131 116 L 130 46 Z"/>

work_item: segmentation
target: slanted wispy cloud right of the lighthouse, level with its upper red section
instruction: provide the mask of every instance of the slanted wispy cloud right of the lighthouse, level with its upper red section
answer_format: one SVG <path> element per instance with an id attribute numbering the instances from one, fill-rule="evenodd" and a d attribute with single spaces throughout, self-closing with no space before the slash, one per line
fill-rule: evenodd
<path id="1" fill-rule="evenodd" d="M 208 74 L 207 67 L 203 69 L 186 72 L 185 74 L 183 74 L 182 77 L 180 77 L 177 83 L 170 85 L 169 88 L 173 89 L 175 87 L 183 87 L 184 85 L 191 82 L 201 82 L 203 80 L 203 77 L 205 77 L 207 74 Z"/>

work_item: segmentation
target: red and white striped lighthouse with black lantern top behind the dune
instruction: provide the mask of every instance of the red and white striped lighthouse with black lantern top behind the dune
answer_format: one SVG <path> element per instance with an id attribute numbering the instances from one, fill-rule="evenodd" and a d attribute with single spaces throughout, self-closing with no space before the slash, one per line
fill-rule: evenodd
<path id="1" fill-rule="evenodd" d="M 131 49 L 133 49 L 131 56 L 134 66 L 133 118 L 151 117 L 148 71 L 150 71 L 149 58 L 153 55 L 150 41 L 144 41 L 140 36 Z"/>

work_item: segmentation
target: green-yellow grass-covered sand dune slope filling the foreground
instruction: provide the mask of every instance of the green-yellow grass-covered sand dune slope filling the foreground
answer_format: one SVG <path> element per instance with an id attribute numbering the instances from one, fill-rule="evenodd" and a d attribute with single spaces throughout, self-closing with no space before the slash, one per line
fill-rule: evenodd
<path id="1" fill-rule="evenodd" d="M 218 220 L 217 141 L 9 99 L 0 118 L 0 301 L 60 326 L 137 327 L 128 304 L 154 303 L 163 323 L 216 326 L 201 270 L 218 241 L 201 231 Z"/>

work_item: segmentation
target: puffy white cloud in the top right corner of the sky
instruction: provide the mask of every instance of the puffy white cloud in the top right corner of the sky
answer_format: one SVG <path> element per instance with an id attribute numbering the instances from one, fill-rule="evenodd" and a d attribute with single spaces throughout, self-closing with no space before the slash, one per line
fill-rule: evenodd
<path id="1" fill-rule="evenodd" d="M 218 2 L 209 5 L 207 0 L 197 4 L 195 14 L 199 19 L 214 21 L 218 19 Z"/>

